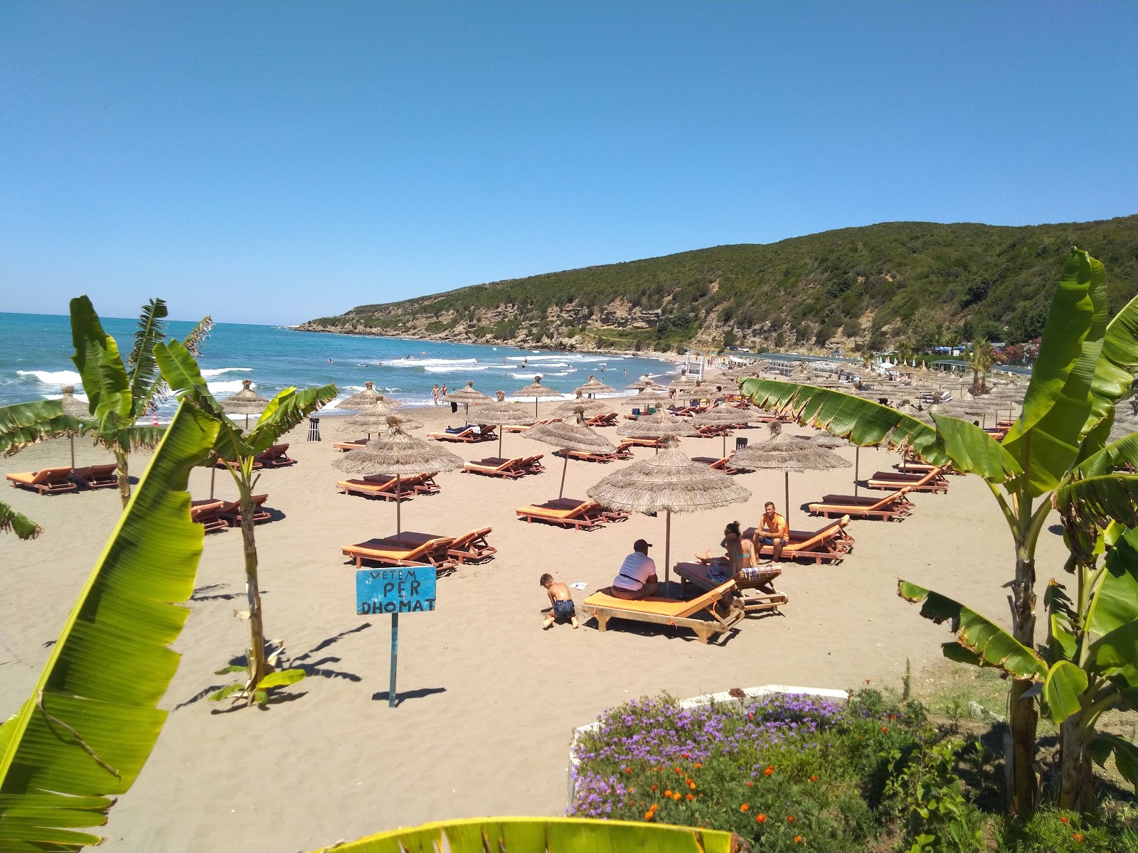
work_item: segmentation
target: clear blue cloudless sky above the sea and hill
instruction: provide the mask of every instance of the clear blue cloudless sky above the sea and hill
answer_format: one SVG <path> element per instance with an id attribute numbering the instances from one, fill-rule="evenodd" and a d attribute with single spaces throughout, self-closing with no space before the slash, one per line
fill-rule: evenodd
<path id="1" fill-rule="evenodd" d="M 1138 3 L 0 5 L 0 309 L 295 323 L 1138 212 Z"/>

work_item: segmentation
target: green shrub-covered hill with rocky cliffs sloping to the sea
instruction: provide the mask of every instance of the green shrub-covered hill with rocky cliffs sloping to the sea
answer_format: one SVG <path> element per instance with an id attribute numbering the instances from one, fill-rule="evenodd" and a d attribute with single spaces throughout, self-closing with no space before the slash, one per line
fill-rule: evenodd
<path id="1" fill-rule="evenodd" d="M 306 331 L 666 351 L 880 350 L 1038 337 L 1072 246 L 1138 292 L 1138 215 L 1058 225 L 890 222 L 531 275 L 320 317 Z"/>

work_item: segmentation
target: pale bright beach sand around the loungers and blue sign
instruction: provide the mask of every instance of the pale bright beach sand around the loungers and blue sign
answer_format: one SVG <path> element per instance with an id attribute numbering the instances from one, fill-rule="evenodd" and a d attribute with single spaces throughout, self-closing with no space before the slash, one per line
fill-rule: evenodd
<path id="1" fill-rule="evenodd" d="M 461 408 L 452 415 L 450 407 L 411 414 L 427 422 L 419 436 L 462 419 Z M 294 690 L 303 695 L 269 711 L 228 713 L 205 699 L 231 680 L 213 673 L 244 654 L 248 640 L 246 623 L 233 616 L 245 606 L 240 533 L 207 536 L 192 615 L 175 646 L 181 665 L 163 701 L 171 714 L 138 782 L 112 809 L 106 850 L 311 850 L 430 820 L 561 814 L 571 729 L 625 699 L 761 684 L 843 688 L 869 679 L 897 687 L 906 657 L 920 677 L 941 660 L 949 632 L 897 597 L 898 577 L 1008 621 L 1001 585 L 1013 574 L 1011 536 L 988 487 L 953 477 L 948 495 L 915 495 L 904 522 L 853 521 L 857 544 L 841 565 L 786 565 L 777 581 L 790 596 L 784 615 L 748 619 L 723 645 L 629 622 L 610 623 L 605 633 L 592 623 L 543 632 L 543 572 L 586 582 L 585 591 L 575 591 L 579 604 L 611 582 L 638 537 L 654 543 L 651 554 L 662 568 L 665 519 L 634 515 L 593 531 L 518 520 L 514 507 L 556 497 L 561 459 L 551 455 L 555 448 L 506 434 L 505 455 L 545 453 L 546 471 L 514 481 L 439 474 L 440 494 L 403 505 L 406 530 L 459 535 L 493 525 L 498 554 L 440 578 L 436 612 L 403 618 L 401 704 L 390 709 L 390 620 L 356 615 L 355 573 L 340 546 L 393 533 L 395 507 L 336 492 L 344 475 L 331 465 L 338 456 L 332 440 L 345 437 L 330 417 L 321 425 L 320 444 L 305 440 L 306 424 L 295 430 L 289 454 L 298 464 L 266 471 L 257 487 L 284 515 L 257 528 L 266 636 L 283 639 L 296 663 L 312 668 Z M 602 432 L 616 438 L 613 429 Z M 753 444 L 767 431 L 737 434 Z M 468 459 L 497 452 L 496 442 L 450 447 Z M 719 438 L 681 445 L 691 456 L 718 457 L 720 448 Z M 86 440 L 76 441 L 76 453 L 77 464 L 110 459 Z M 851 447 L 836 453 L 853 457 Z M 636 458 L 651 454 L 636 449 Z M 863 450 L 861 477 L 897 458 Z M 67 459 L 66 441 L 57 440 L 5 459 L 3 470 Z M 132 463 L 141 473 L 145 459 Z M 625 464 L 570 462 L 566 496 L 584 498 L 586 488 Z M 792 474 L 791 503 L 848 492 L 852 479 L 852 469 Z M 747 505 L 673 517 L 673 562 L 718 545 L 724 522 L 756 523 L 764 500 L 781 506 L 781 472 L 739 481 L 753 492 Z M 193 472 L 191 491 L 208 496 L 209 471 Z M 236 497 L 221 471 L 217 494 Z M 0 711 L 7 717 L 32 690 L 121 507 L 114 489 L 5 495 L 44 528 L 34 541 L 0 537 Z M 791 527 L 822 524 L 800 508 L 791 514 Z M 1062 537 L 1045 529 L 1040 596 L 1048 577 L 1062 575 Z"/>

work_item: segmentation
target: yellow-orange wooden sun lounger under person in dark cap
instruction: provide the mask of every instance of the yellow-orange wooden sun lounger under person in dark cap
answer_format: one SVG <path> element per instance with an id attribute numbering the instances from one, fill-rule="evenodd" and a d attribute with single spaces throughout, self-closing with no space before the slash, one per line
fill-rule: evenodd
<path id="1" fill-rule="evenodd" d="M 593 593 L 582 603 L 585 616 L 594 616 L 600 631 L 609 628 L 610 619 L 670 624 L 691 628 L 700 643 L 707 644 L 716 633 L 729 631 L 745 615 L 735 601 L 735 581 L 728 580 L 690 602 L 650 596 L 625 601 L 610 595 L 611 587 Z"/>

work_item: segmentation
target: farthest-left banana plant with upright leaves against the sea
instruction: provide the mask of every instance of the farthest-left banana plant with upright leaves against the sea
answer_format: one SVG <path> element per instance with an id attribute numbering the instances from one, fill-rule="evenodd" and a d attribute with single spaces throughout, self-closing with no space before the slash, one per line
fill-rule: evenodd
<path id="1" fill-rule="evenodd" d="M 115 456 L 123 506 L 131 497 L 131 452 L 150 449 L 162 438 L 162 428 L 142 425 L 138 421 L 152 411 L 164 391 L 154 346 L 166 334 L 166 303 L 162 299 L 151 299 L 142 306 L 138 331 L 124 363 L 115 339 L 102 330 L 91 300 L 85 296 L 71 300 L 72 343 L 75 347 L 72 362 L 83 381 L 94 421 L 96 442 Z M 188 340 L 199 342 L 211 325 L 211 318 L 206 317 Z"/>

